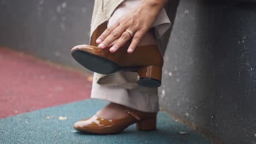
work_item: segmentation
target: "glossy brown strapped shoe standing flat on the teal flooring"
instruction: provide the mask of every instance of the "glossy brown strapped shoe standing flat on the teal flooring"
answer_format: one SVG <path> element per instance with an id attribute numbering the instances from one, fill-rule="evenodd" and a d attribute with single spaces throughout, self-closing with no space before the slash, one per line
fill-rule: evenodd
<path id="1" fill-rule="evenodd" d="M 125 107 L 128 117 L 104 119 L 96 115 L 74 123 L 74 129 L 91 134 L 117 134 L 136 123 L 138 130 L 155 130 L 157 113 L 141 112 Z"/>

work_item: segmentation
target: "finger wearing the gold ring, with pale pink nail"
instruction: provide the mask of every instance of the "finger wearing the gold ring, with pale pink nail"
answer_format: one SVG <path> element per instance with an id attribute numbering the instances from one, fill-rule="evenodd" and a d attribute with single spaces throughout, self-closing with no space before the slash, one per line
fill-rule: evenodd
<path id="1" fill-rule="evenodd" d="M 109 49 L 110 52 L 116 52 L 121 46 L 131 39 L 131 35 L 128 32 L 123 32 L 121 37 L 115 42 L 115 44 Z"/>

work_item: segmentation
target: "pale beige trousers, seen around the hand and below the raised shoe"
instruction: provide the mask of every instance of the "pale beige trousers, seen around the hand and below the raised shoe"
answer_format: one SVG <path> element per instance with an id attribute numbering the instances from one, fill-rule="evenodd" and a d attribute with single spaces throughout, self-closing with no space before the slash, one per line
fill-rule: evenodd
<path id="1" fill-rule="evenodd" d="M 108 20 L 108 27 L 138 5 L 140 0 L 122 2 Z M 171 22 L 164 9 L 153 24 L 156 39 L 170 28 Z M 107 100 L 144 112 L 158 112 L 158 88 L 144 88 L 136 84 L 137 73 L 117 72 L 111 75 L 94 73 L 91 98 Z"/>

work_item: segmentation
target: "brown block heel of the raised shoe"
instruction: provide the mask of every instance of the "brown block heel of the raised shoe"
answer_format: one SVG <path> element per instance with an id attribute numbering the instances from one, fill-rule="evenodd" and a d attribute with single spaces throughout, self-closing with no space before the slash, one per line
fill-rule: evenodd
<path id="1" fill-rule="evenodd" d="M 160 87 L 162 68 L 154 65 L 139 68 L 137 84 L 142 87 Z"/>

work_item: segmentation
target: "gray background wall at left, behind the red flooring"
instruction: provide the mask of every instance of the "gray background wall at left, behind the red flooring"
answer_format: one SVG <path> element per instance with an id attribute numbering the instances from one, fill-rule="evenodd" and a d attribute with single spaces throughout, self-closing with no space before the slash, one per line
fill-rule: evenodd
<path id="1" fill-rule="evenodd" d="M 0 0 L 0 44 L 78 66 L 70 50 L 89 43 L 93 5 L 92 0 Z"/>

